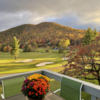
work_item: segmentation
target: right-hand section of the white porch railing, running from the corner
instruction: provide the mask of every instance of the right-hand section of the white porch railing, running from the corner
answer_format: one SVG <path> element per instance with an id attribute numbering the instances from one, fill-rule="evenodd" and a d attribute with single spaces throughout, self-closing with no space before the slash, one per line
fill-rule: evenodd
<path id="1" fill-rule="evenodd" d="M 72 79 L 74 81 L 77 82 L 81 82 L 83 84 L 83 91 L 87 92 L 95 97 L 100 98 L 100 86 L 99 85 L 95 85 L 89 82 L 85 82 L 76 78 L 72 78 L 66 75 L 62 75 L 56 72 L 52 72 L 52 71 L 48 71 L 48 70 L 44 70 L 43 71 L 44 75 L 50 76 L 50 77 L 54 77 L 56 80 L 61 80 L 62 77 L 68 78 L 68 79 Z"/>

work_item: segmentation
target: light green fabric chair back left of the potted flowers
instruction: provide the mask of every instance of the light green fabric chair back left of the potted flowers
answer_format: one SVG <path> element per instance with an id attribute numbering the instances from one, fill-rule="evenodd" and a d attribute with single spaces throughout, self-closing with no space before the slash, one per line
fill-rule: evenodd
<path id="1" fill-rule="evenodd" d="M 24 77 L 12 78 L 3 81 L 4 95 L 6 98 L 20 94 Z"/>

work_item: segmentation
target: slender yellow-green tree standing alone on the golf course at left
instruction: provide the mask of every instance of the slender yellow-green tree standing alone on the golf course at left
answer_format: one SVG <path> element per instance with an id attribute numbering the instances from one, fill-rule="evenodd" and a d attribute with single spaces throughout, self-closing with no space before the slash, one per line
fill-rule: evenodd
<path id="1" fill-rule="evenodd" d="M 12 45 L 12 50 L 11 54 L 14 56 L 15 59 L 17 59 L 19 52 L 20 52 L 20 44 L 19 40 L 16 37 L 13 37 L 13 45 Z"/>

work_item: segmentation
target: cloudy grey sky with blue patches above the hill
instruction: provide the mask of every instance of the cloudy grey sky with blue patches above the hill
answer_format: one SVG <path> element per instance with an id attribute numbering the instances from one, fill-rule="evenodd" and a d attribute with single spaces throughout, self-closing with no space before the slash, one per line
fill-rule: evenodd
<path id="1" fill-rule="evenodd" d="M 100 30 L 100 0 L 0 0 L 0 31 L 45 21 Z"/>

